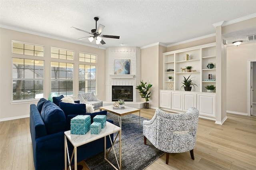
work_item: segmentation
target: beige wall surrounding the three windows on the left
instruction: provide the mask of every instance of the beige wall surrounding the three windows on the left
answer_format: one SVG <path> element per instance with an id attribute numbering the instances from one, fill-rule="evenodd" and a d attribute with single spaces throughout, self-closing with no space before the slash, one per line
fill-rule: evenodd
<path id="1" fill-rule="evenodd" d="M 23 32 L 17 32 L 0 28 L 0 121 L 28 117 L 30 104 L 38 100 L 26 102 L 12 102 L 12 57 L 20 57 L 19 54 L 12 54 L 12 40 L 26 43 L 33 43 L 45 46 L 44 66 L 44 98 L 48 99 L 50 93 L 50 47 L 74 50 L 74 96 L 78 93 L 78 63 L 79 51 L 98 55 L 97 85 L 98 98 L 105 100 L 105 50 L 85 45 L 79 45 L 60 40 L 54 40 L 42 36 L 36 36 Z M 84 63 L 83 63 L 84 64 Z"/>

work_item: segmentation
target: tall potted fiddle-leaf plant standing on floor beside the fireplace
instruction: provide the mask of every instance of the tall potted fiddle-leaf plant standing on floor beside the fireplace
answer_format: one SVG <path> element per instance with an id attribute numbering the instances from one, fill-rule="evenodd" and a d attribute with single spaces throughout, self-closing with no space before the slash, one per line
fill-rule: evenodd
<path id="1" fill-rule="evenodd" d="M 144 83 L 142 80 L 142 81 L 140 81 L 140 85 L 136 86 L 136 89 L 139 90 L 141 98 L 146 99 L 146 103 L 144 103 L 144 108 L 148 109 L 148 106 L 149 106 L 148 99 L 150 98 L 150 93 L 151 93 L 151 91 L 150 92 L 148 92 L 148 91 L 152 87 L 152 84 L 148 84 L 148 85 L 146 85 L 146 84 L 147 84 L 147 82 Z"/>

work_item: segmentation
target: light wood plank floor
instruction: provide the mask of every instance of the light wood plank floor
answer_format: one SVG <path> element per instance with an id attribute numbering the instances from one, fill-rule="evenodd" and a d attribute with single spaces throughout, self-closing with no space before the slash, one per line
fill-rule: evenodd
<path id="1" fill-rule="evenodd" d="M 141 109 L 141 116 L 154 112 Z M 199 118 L 195 160 L 189 152 L 170 154 L 166 165 L 164 154 L 146 170 L 256 170 L 256 117 L 227 117 L 223 125 Z M 29 118 L 0 122 L 0 149 L 0 170 L 34 170 Z"/>

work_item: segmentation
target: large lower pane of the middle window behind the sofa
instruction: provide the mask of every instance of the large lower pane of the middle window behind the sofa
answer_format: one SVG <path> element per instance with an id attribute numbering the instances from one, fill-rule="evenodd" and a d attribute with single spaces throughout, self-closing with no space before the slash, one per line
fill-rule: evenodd
<path id="1" fill-rule="evenodd" d="M 72 63 L 51 62 L 51 92 L 73 96 L 73 69 Z"/>

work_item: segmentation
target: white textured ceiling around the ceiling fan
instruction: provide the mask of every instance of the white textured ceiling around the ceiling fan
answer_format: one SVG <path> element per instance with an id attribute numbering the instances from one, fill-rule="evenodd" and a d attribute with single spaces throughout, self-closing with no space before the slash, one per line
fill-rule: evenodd
<path id="1" fill-rule="evenodd" d="M 175 0 L 0 0 L 0 26 L 95 47 L 143 47 L 164 45 L 215 33 L 212 24 L 256 13 L 256 0 L 175 1 Z M 102 34 L 120 36 L 95 40 L 77 40 L 97 24 Z M 256 33 L 256 29 L 248 30 Z M 235 34 L 235 35 L 234 35 Z M 234 33 L 226 36 L 240 36 Z M 238 35 L 239 34 L 239 35 Z M 243 34 L 246 34 L 243 32 Z M 248 36 L 248 35 L 247 35 Z"/>

